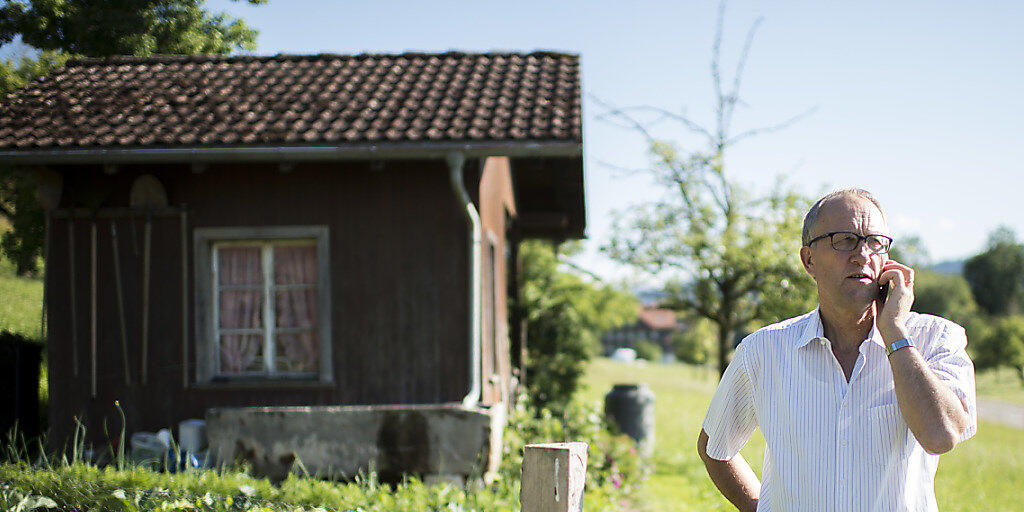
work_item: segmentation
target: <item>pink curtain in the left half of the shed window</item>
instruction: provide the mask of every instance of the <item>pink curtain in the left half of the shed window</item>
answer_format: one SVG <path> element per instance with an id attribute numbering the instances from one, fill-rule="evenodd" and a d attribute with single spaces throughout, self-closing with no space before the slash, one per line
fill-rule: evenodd
<path id="1" fill-rule="evenodd" d="M 219 248 L 217 273 L 222 287 L 218 299 L 220 329 L 262 329 L 263 270 L 260 248 Z M 220 336 L 220 372 L 260 372 L 263 370 L 261 334 L 223 334 Z"/>

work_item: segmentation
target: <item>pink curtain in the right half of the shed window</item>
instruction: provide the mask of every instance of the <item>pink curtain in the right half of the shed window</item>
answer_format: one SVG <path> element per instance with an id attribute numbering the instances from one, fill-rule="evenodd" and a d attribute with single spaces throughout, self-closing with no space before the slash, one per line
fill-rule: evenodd
<path id="1" fill-rule="evenodd" d="M 317 326 L 316 247 L 281 246 L 273 249 L 274 361 L 282 372 L 316 372 L 319 360 Z"/>

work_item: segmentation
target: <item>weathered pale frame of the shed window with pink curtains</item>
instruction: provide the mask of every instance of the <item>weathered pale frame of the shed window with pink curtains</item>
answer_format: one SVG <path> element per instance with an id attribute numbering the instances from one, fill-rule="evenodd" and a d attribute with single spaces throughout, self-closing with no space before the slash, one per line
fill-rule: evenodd
<path id="1" fill-rule="evenodd" d="M 334 382 L 331 358 L 331 273 L 330 237 L 327 226 L 241 226 L 241 227 L 197 227 L 193 233 L 196 261 L 196 380 L 199 384 L 214 382 L 263 381 L 318 381 Z M 312 241 L 316 247 L 317 265 L 317 338 L 319 343 L 319 369 L 315 373 L 286 373 L 274 371 L 274 301 L 272 294 L 290 286 L 275 285 L 273 282 L 274 246 Z M 263 326 L 264 372 L 240 375 L 224 375 L 219 372 L 219 339 L 224 331 L 218 325 L 220 291 L 217 275 L 217 252 L 220 247 L 260 246 L 263 268 Z M 302 288 L 303 286 L 298 286 Z"/>

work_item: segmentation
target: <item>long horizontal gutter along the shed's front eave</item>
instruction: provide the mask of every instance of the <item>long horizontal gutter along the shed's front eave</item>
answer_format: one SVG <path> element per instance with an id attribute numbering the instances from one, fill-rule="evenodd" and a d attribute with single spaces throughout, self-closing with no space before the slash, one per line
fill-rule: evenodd
<path id="1" fill-rule="evenodd" d="M 123 147 L 0 151 L 0 164 L 170 164 L 218 162 L 312 162 L 380 159 L 441 159 L 453 152 L 464 158 L 579 157 L 574 141 L 384 142 L 344 145 L 224 145 L 194 147 Z"/>

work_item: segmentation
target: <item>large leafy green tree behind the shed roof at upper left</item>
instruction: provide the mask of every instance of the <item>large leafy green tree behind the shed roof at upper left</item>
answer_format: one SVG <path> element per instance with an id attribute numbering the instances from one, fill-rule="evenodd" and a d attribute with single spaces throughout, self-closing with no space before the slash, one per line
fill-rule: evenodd
<path id="1" fill-rule="evenodd" d="M 239 0 L 236 0 L 239 1 Z M 245 0 L 262 4 L 266 0 Z M 204 0 L 32 0 L 0 6 L 0 45 L 16 37 L 40 50 L 0 62 L 0 95 L 63 65 L 70 55 L 226 54 L 256 48 L 256 31 L 206 10 Z M 11 225 L 0 247 L 19 275 L 36 271 L 45 217 L 31 176 L 0 168 L 0 215 Z"/>

